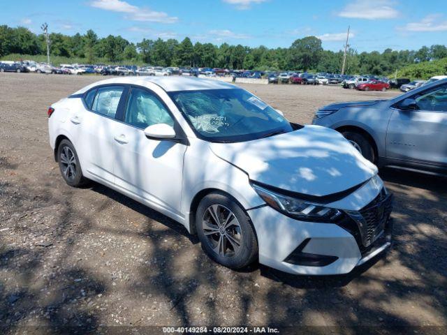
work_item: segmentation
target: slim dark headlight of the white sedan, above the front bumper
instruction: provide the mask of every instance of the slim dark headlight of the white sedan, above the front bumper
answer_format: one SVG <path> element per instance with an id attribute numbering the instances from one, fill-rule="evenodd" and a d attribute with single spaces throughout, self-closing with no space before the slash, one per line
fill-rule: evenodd
<path id="1" fill-rule="evenodd" d="M 334 222 L 341 218 L 342 212 L 335 208 L 325 207 L 321 204 L 292 198 L 288 195 L 279 194 L 251 184 L 256 193 L 263 198 L 267 204 L 287 216 L 301 221 Z"/>

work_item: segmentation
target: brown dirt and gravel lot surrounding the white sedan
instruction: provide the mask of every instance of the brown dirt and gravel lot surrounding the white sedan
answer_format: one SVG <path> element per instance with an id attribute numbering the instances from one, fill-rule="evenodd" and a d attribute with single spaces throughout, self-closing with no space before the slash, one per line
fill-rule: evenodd
<path id="1" fill-rule="evenodd" d="M 47 142 L 47 106 L 100 79 L 0 75 L 0 333 L 185 325 L 446 332 L 446 179 L 381 171 L 396 198 L 395 244 L 352 274 L 231 271 L 169 218 L 98 184 L 64 183 Z M 333 101 L 397 94 L 246 87 L 299 123 Z"/>

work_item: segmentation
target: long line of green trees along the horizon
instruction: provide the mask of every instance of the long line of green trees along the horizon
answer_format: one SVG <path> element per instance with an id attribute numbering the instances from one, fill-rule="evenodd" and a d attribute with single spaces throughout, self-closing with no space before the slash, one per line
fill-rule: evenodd
<path id="1" fill-rule="evenodd" d="M 0 26 L 0 57 L 8 54 L 38 55 L 46 53 L 43 34 L 34 34 L 25 27 Z M 85 63 L 107 61 L 113 64 L 151 64 L 156 66 L 196 66 L 248 70 L 314 70 L 340 73 L 343 52 L 323 50 L 315 36 L 299 38 L 290 47 L 270 49 L 265 46 L 247 47 L 223 43 L 192 43 L 170 38 L 143 38 L 131 43 L 122 36 L 99 38 L 92 30 L 84 35 L 50 34 L 50 55 L 77 57 Z M 357 52 L 349 49 L 346 73 L 388 75 L 404 66 L 447 57 L 446 45 L 421 47 L 419 50 Z"/>

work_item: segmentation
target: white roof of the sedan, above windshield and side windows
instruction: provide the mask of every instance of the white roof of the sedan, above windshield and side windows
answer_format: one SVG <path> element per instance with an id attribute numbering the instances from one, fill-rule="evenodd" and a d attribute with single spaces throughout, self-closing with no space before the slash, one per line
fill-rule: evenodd
<path id="1" fill-rule="evenodd" d="M 180 77 L 180 76 L 148 76 L 148 77 L 114 77 L 106 80 L 94 82 L 87 87 L 76 91 L 75 94 L 82 94 L 98 85 L 106 84 L 134 84 L 138 86 L 148 87 L 150 84 L 156 84 L 167 92 L 172 91 L 196 91 L 202 89 L 238 89 L 239 87 L 222 82 L 220 80 L 203 79 L 196 77 Z"/>

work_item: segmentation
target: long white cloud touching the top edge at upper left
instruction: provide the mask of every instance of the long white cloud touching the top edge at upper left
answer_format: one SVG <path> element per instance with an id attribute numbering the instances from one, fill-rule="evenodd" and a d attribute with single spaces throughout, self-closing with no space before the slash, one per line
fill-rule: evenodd
<path id="1" fill-rule="evenodd" d="M 94 0 L 91 1 L 90 6 L 117 13 L 126 13 L 126 19 L 133 21 L 174 23 L 178 20 L 178 17 L 171 17 L 164 12 L 140 8 L 121 0 Z"/>

